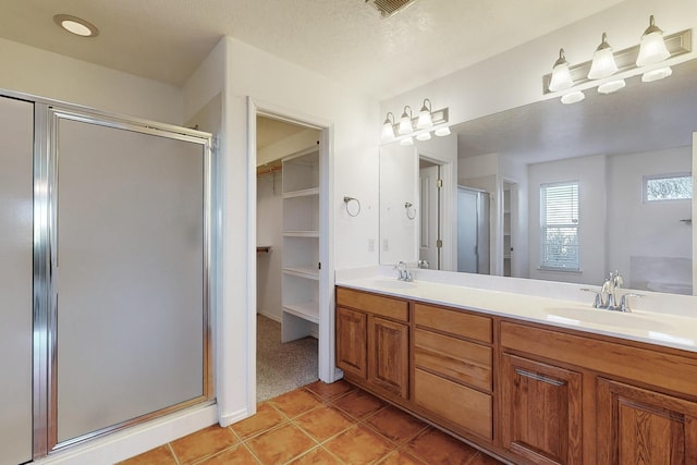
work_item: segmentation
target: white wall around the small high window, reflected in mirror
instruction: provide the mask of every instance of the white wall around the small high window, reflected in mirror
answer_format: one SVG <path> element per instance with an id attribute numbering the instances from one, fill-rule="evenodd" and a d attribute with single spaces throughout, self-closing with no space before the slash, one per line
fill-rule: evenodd
<path id="1" fill-rule="evenodd" d="M 692 148 L 617 155 L 608 161 L 609 269 L 620 270 L 633 289 L 647 289 L 648 281 L 690 283 L 694 227 L 680 220 L 692 218 L 692 201 L 644 203 L 643 180 L 645 175 L 689 173 Z"/>

